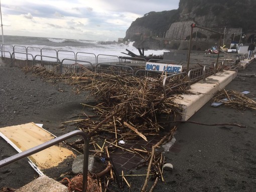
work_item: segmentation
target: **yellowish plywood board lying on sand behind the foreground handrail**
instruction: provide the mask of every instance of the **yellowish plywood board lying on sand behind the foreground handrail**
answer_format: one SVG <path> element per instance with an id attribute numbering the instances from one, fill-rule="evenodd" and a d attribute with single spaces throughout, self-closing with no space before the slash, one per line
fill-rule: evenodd
<path id="1" fill-rule="evenodd" d="M 0 132 L 21 151 L 28 150 L 55 138 L 53 134 L 37 126 L 35 123 L 3 127 L 0 128 Z M 75 156 L 73 151 L 61 145 L 54 145 L 31 155 L 29 158 L 43 170 L 57 166 L 69 156 Z"/>

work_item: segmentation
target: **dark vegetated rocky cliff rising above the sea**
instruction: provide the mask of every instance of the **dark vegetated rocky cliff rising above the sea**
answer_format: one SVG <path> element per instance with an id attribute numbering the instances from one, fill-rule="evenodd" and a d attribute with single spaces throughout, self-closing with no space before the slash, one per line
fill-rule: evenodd
<path id="1" fill-rule="evenodd" d="M 135 46 L 150 49 L 174 48 L 170 41 L 186 41 L 190 38 L 192 23 L 220 33 L 225 32 L 224 43 L 231 41 L 249 43 L 256 39 L 255 0 L 180 0 L 179 9 L 150 12 L 134 21 L 126 31 L 124 40 L 135 41 Z M 219 36 L 195 28 L 192 37 L 198 41 L 216 42 Z M 241 39 L 244 33 L 246 38 Z M 158 40 L 158 43 L 157 43 Z M 169 42 L 167 42 L 169 41 Z"/>

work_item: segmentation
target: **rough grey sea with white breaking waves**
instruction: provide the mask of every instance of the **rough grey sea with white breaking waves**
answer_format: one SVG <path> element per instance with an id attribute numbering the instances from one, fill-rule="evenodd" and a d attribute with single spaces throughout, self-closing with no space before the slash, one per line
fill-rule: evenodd
<path id="1" fill-rule="evenodd" d="M 0 43 L 3 45 L 3 40 L 0 38 Z M 4 35 L 4 45 L 17 45 L 25 47 L 37 47 L 44 49 L 55 49 L 62 51 L 72 51 L 74 53 L 93 53 L 96 56 L 114 55 L 127 56 L 129 50 L 136 55 L 140 55 L 137 48 L 133 46 L 134 42 L 117 43 L 117 42 L 102 42 L 91 40 L 75 40 L 75 39 L 58 39 L 58 38 L 44 38 L 44 37 L 25 37 L 25 36 L 8 36 Z M 6 51 L 6 50 L 5 50 Z M 145 50 L 144 55 L 163 55 L 167 50 Z"/>

